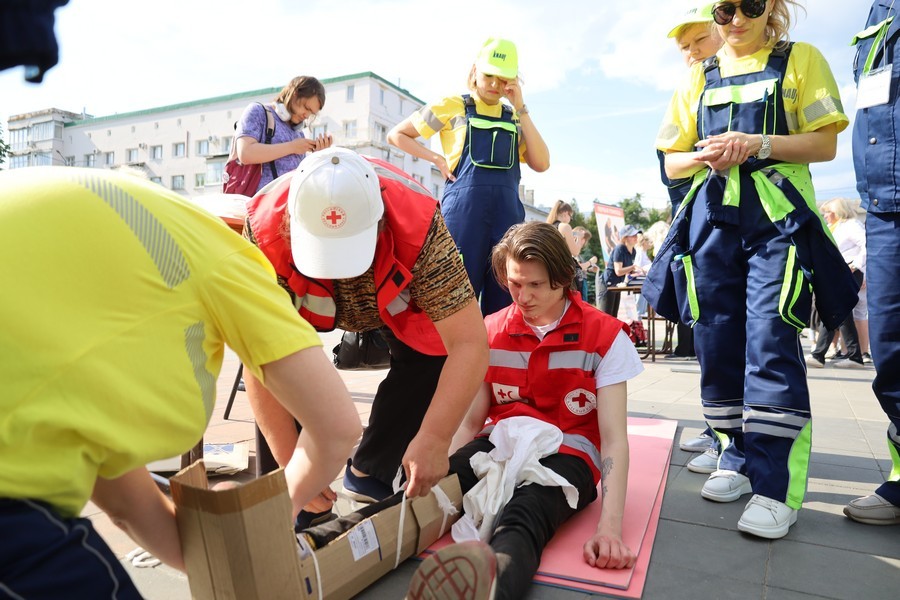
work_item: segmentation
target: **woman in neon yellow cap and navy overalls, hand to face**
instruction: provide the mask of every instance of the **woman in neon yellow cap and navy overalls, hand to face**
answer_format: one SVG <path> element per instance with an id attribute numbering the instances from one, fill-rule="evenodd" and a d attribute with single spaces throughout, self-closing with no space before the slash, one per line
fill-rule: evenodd
<path id="1" fill-rule="evenodd" d="M 550 166 L 521 83 L 515 44 L 490 38 L 469 71 L 469 94 L 427 104 L 388 133 L 391 144 L 433 163 L 444 176 L 441 214 L 484 315 L 512 302 L 491 274 L 490 254 L 509 227 L 525 220 L 520 163 L 538 172 Z M 435 134 L 443 154 L 416 141 Z"/>

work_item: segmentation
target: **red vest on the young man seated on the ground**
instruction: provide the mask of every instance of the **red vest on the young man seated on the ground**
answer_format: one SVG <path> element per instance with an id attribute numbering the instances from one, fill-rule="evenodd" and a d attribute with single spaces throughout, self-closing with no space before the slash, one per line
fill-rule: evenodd
<path id="1" fill-rule="evenodd" d="M 581 457 L 600 480 L 600 427 L 594 370 L 627 326 L 568 292 L 559 326 L 538 340 L 516 306 L 485 318 L 491 360 L 490 424 L 533 417 L 563 432 L 562 454 Z"/>

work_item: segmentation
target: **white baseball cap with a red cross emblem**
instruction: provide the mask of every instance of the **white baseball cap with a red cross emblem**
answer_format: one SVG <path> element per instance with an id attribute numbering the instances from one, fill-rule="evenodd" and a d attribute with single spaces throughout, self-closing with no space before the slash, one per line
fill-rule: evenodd
<path id="1" fill-rule="evenodd" d="M 375 169 L 359 154 L 333 147 L 303 159 L 287 209 L 294 265 L 304 275 L 346 279 L 372 264 L 384 203 Z"/>

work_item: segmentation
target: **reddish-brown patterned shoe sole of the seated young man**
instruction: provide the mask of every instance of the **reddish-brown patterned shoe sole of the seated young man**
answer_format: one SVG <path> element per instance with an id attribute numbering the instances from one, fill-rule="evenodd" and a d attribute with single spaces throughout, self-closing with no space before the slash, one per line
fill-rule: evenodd
<path id="1" fill-rule="evenodd" d="M 406 600 L 493 600 L 497 557 L 484 542 L 441 548 L 422 561 L 409 582 Z"/>

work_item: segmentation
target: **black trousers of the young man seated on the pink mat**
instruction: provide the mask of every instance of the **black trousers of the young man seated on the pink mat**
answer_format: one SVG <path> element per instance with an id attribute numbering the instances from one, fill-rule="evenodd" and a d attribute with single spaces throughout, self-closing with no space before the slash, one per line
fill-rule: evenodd
<path id="1" fill-rule="evenodd" d="M 477 452 L 493 449 L 494 445 L 486 437 L 477 438 L 450 457 L 450 472 L 459 477 L 463 494 L 478 483 L 469 459 Z M 568 454 L 553 454 L 541 459 L 541 464 L 575 486 L 578 506 L 571 508 L 558 487 L 531 484 L 516 488 L 498 516 L 490 540 L 497 556 L 497 600 L 525 597 L 550 538 L 566 519 L 597 498 L 593 474 L 582 459 Z M 402 498 L 403 492 L 397 492 L 346 517 L 307 529 L 306 534 L 316 548 L 321 548 L 364 519 L 399 504 Z"/>

